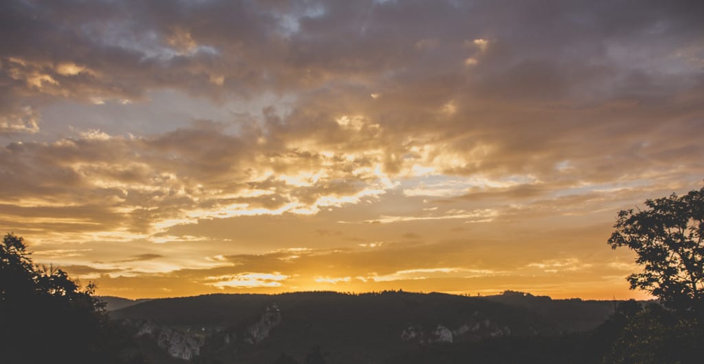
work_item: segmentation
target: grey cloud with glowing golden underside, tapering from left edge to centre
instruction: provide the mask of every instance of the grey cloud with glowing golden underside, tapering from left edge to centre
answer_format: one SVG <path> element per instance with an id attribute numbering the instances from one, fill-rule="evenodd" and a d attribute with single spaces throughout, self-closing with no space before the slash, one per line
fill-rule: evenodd
<path id="1" fill-rule="evenodd" d="M 27 206 L 20 212 L 8 205 L 8 214 L 34 215 L 35 223 L 63 221 L 76 233 L 156 234 L 152 241 L 166 242 L 177 239 L 162 233 L 184 223 L 315 214 L 375 199 L 389 188 L 379 169 L 349 173 L 366 160 L 261 148 L 246 136 L 221 134 L 214 124 L 151 138 L 91 130 L 51 143 L 14 143 L 0 150 L 1 194 L 15 207 Z M 42 201 L 37 195 L 48 197 Z M 77 218 L 79 212 L 83 218 Z"/>

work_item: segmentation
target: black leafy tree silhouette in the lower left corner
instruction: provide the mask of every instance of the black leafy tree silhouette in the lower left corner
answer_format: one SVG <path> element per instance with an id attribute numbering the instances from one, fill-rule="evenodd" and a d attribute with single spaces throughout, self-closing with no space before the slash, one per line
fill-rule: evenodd
<path id="1" fill-rule="evenodd" d="M 0 358 L 3 363 L 140 363 L 103 304 L 61 269 L 34 266 L 23 238 L 0 244 Z"/>

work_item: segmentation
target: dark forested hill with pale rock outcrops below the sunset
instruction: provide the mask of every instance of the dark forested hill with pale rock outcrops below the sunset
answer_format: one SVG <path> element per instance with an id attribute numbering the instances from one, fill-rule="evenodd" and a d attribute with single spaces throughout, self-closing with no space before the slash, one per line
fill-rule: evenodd
<path id="1" fill-rule="evenodd" d="M 201 363 L 272 363 L 279 353 L 302 358 L 315 346 L 329 353 L 329 363 L 380 363 L 419 345 L 589 330 L 614 308 L 613 301 L 536 299 L 517 292 L 296 292 L 154 299 L 111 316 L 170 342 L 163 349 L 172 356 Z M 187 344 L 173 344 L 180 342 L 173 330 L 182 330 L 177 337 L 186 337 Z"/>

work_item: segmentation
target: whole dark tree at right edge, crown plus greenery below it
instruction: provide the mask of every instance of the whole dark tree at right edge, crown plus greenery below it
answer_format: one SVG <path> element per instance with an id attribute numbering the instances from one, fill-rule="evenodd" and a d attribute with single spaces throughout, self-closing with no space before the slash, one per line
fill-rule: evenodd
<path id="1" fill-rule="evenodd" d="M 643 271 L 629 275 L 631 289 L 646 290 L 672 309 L 621 304 L 601 328 L 612 343 L 603 363 L 701 363 L 704 188 L 645 204 L 645 210 L 619 212 L 608 243 L 638 255 Z"/>

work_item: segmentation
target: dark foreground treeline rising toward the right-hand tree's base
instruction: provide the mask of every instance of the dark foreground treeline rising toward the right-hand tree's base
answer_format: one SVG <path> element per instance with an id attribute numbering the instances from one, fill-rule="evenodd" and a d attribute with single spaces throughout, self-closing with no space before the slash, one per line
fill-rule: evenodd
<path id="1" fill-rule="evenodd" d="M 704 330 L 692 315 L 653 302 L 626 301 L 588 332 L 422 346 L 384 364 L 695 364 L 702 363 L 702 345 Z"/>

